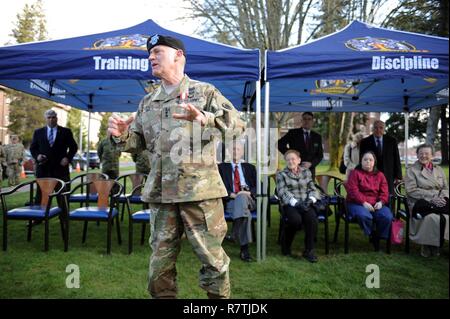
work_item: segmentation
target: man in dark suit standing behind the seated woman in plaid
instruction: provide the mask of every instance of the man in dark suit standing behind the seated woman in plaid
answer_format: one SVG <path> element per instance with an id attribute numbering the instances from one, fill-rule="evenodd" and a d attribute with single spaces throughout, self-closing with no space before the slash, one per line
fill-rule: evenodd
<path id="1" fill-rule="evenodd" d="M 286 135 L 278 140 L 278 150 L 283 155 L 289 149 L 300 152 L 301 165 L 309 168 L 314 180 L 316 166 L 323 159 L 323 146 L 320 134 L 311 130 L 313 126 L 314 115 L 311 112 L 304 112 L 302 114 L 302 127 L 289 130 Z"/>

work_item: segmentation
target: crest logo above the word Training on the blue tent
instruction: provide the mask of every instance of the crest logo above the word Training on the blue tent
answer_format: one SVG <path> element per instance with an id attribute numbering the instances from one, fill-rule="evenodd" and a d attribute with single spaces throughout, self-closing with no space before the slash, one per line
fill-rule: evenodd
<path id="1" fill-rule="evenodd" d="M 142 34 L 121 35 L 97 40 L 85 50 L 146 50 L 147 39 L 148 36 Z"/>

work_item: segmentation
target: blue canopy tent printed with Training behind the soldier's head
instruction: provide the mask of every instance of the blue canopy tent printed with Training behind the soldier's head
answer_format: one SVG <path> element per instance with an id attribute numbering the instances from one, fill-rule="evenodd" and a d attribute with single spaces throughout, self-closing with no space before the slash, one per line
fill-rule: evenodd
<path id="1" fill-rule="evenodd" d="M 186 73 L 214 84 L 238 109 L 259 80 L 259 51 L 177 34 L 147 20 L 136 26 L 63 40 L 0 48 L 0 85 L 93 112 L 134 112 L 151 75 L 152 34 L 180 38 Z M 253 88 L 255 86 L 253 85 Z"/>

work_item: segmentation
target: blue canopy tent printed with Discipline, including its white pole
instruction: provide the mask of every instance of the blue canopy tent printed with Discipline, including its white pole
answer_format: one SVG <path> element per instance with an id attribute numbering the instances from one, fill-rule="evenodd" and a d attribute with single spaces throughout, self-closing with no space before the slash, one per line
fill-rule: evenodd
<path id="1" fill-rule="evenodd" d="M 407 132 L 409 112 L 448 103 L 448 39 L 354 21 L 310 43 L 267 51 L 263 98 L 265 155 L 269 111 L 405 112 Z M 267 196 L 262 205 L 265 214 Z"/>

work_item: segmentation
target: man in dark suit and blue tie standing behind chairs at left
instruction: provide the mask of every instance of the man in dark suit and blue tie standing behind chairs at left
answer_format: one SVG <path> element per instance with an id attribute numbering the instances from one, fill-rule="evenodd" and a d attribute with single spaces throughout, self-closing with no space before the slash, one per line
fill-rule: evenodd
<path id="1" fill-rule="evenodd" d="M 36 177 L 70 180 L 69 164 L 78 150 L 72 131 L 58 125 L 54 110 L 45 112 L 47 125 L 34 131 L 30 152 L 36 160 Z"/>

